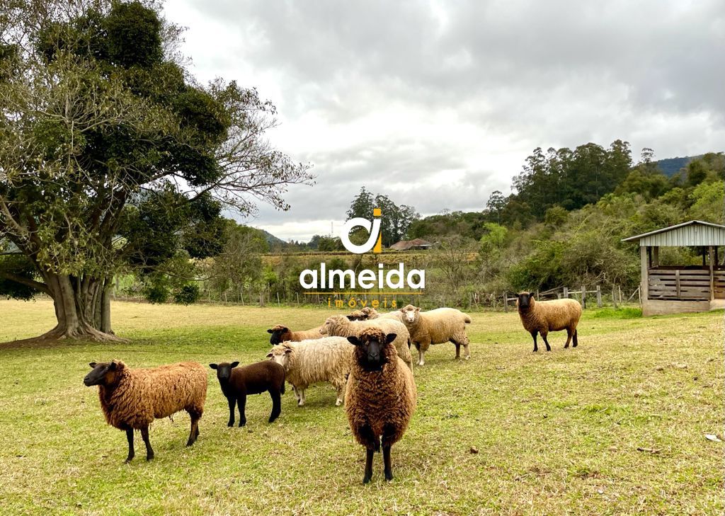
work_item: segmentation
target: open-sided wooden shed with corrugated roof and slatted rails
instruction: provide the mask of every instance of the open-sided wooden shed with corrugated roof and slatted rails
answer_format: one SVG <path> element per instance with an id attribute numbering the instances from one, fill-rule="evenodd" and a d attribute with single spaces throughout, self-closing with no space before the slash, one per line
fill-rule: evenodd
<path id="1" fill-rule="evenodd" d="M 725 307 L 725 267 L 718 246 L 725 246 L 725 226 L 690 220 L 642 235 L 642 315 L 705 312 Z M 660 247 L 700 247 L 703 265 L 660 265 Z"/>

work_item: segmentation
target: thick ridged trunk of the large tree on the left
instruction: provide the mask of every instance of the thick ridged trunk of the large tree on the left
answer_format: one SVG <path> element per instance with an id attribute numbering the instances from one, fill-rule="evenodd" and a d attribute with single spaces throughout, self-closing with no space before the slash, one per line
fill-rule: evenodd
<path id="1" fill-rule="evenodd" d="M 38 337 L 39 340 L 123 341 L 115 336 L 111 328 L 110 289 L 113 278 L 46 274 L 45 279 L 58 323 Z"/>

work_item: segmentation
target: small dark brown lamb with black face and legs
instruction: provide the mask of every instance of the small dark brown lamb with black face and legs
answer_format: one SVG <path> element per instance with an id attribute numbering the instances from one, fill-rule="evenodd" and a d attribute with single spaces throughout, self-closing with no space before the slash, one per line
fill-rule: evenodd
<path id="1" fill-rule="evenodd" d="M 282 412 L 281 395 L 284 394 L 284 367 L 271 360 L 237 367 L 239 362 L 210 364 L 216 370 L 219 386 L 229 404 L 229 422 L 234 425 L 234 405 L 239 405 L 239 426 L 247 424 L 244 407 L 249 394 L 268 392 L 272 398 L 272 423 Z"/>

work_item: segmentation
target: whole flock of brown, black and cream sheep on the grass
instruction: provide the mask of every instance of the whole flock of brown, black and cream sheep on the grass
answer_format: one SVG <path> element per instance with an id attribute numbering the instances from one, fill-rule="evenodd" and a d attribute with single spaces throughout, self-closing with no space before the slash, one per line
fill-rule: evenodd
<path id="1" fill-rule="evenodd" d="M 551 350 L 550 331 L 567 330 L 566 346 L 573 340 L 581 317 L 579 303 L 571 299 L 536 301 L 528 292 L 518 294 L 518 313 L 523 327 L 534 338 L 538 350 L 540 333 Z M 372 478 L 375 451 L 382 448 L 386 480 L 392 480 L 391 446 L 402 438 L 416 404 L 413 357 L 425 364 L 431 344 L 452 342 L 456 358 L 460 346 L 465 359 L 471 357 L 466 325 L 471 317 L 454 308 L 421 311 L 413 305 L 379 314 L 366 307 L 350 315 L 328 317 L 323 325 L 291 331 L 284 325 L 270 328 L 268 360 L 239 367 L 239 362 L 210 364 L 217 372 L 229 405 L 228 426 L 239 409 L 239 426 L 247 423 L 245 404 L 249 394 L 268 392 L 272 398 L 269 423 L 281 414 L 285 381 L 294 390 L 299 407 L 305 405 L 305 390 L 314 383 L 329 382 L 337 391 L 336 405 L 345 404 L 347 419 L 357 442 L 365 447 L 363 483 Z M 351 345 L 352 344 L 352 345 Z M 207 396 L 206 369 L 197 362 L 181 362 L 149 369 L 130 369 L 120 360 L 91 362 L 86 386 L 99 386 L 99 399 L 109 425 L 125 430 L 128 457 L 134 457 L 133 432 L 141 430 L 146 459 L 154 457 L 149 425 L 154 419 L 186 410 L 191 416 L 187 446 L 199 436 L 199 419 Z"/>

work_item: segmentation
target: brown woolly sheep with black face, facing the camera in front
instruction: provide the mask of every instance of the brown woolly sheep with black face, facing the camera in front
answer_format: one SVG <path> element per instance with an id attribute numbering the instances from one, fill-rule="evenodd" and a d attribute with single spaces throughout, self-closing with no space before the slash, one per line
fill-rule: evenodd
<path id="1" fill-rule="evenodd" d="M 373 477 L 373 454 L 383 446 L 385 480 L 393 479 L 391 446 L 402 438 L 416 404 L 413 372 L 397 356 L 394 333 L 367 328 L 347 340 L 355 345 L 345 412 L 358 443 L 365 446 L 363 483 Z"/>

